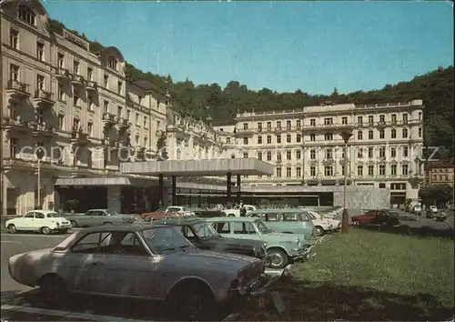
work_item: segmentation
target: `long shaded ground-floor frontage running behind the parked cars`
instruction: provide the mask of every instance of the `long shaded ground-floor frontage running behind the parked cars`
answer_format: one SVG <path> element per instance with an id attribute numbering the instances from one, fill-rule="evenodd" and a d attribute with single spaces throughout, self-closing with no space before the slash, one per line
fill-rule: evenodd
<path id="1" fill-rule="evenodd" d="M 3 214 L 20 215 L 40 205 L 45 209 L 63 208 L 84 212 L 89 208 L 112 208 L 122 213 L 153 211 L 161 206 L 213 206 L 238 203 L 258 205 L 268 200 L 270 203 L 288 203 L 305 206 L 342 206 L 343 186 L 240 186 L 233 184 L 231 196 L 227 196 L 226 186 L 204 185 L 190 182 L 177 182 L 173 201 L 170 180 L 165 180 L 163 201 L 159 198 L 157 178 L 129 180 L 112 185 L 98 181 L 92 185 L 60 185 L 53 176 L 42 176 L 40 199 L 37 196 L 37 181 L 33 171 L 13 175 L 9 173 L 5 181 L 5 201 Z M 99 179 L 99 178 L 98 178 Z M 106 180 L 109 178 L 105 178 Z M 66 180 L 66 179 L 63 179 Z M 70 179 L 71 180 L 71 179 Z M 396 196 L 388 188 L 374 186 L 348 186 L 348 204 L 352 207 L 388 207 L 400 204 L 404 196 Z M 76 202 L 75 202 L 76 200 Z M 289 200 L 292 200 L 289 202 Z M 7 211 L 6 211 L 7 209 Z"/>

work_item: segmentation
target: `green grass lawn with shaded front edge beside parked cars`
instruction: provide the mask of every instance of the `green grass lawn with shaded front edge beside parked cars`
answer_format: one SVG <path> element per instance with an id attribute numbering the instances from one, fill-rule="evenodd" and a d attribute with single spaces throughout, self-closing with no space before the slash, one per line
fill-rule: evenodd
<path id="1" fill-rule="evenodd" d="M 246 307 L 242 320 L 444 320 L 454 315 L 454 243 L 350 228 L 328 236 L 314 257 L 278 281 L 286 310 L 269 297 Z"/>

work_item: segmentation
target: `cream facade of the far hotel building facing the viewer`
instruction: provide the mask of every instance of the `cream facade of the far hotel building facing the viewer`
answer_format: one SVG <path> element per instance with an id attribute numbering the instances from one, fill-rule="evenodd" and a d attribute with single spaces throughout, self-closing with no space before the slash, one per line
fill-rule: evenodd
<path id="1" fill-rule="evenodd" d="M 390 188 L 417 199 L 424 179 L 423 102 L 307 106 L 298 111 L 238 113 L 233 126 L 217 126 L 230 157 L 275 164 L 274 176 L 249 176 L 252 186 L 336 186 L 344 182 L 343 132 L 351 132 L 351 185 Z"/>

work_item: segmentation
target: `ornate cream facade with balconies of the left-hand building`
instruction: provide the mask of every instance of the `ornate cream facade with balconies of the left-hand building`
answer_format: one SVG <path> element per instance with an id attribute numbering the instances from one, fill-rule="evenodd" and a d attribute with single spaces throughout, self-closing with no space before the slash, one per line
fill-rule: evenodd
<path id="1" fill-rule="evenodd" d="M 157 150 L 170 99 L 128 82 L 116 47 L 89 52 L 84 39 L 52 30 L 37 1 L 4 1 L 0 9 L 2 214 L 47 207 L 57 177 L 115 176 L 122 158 Z M 37 146 L 45 151 L 40 194 Z"/>

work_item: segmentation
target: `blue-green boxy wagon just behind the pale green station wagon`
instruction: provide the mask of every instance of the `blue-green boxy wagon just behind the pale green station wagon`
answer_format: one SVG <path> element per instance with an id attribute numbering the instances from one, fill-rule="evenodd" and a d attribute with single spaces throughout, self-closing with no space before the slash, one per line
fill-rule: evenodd
<path id="1" fill-rule="evenodd" d="M 303 235 L 308 240 L 313 239 L 315 235 L 315 226 L 302 209 L 258 209 L 251 211 L 247 216 L 261 218 L 267 226 L 278 233 Z"/>

